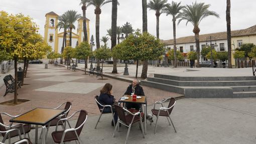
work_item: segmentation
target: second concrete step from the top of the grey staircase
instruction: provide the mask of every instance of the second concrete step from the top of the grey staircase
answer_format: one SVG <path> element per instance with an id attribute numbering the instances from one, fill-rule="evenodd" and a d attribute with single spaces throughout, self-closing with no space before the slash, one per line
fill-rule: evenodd
<path id="1" fill-rule="evenodd" d="M 164 83 L 175 86 L 250 86 L 256 85 L 255 80 L 243 81 L 177 81 L 163 78 L 148 77 L 148 81 Z"/>

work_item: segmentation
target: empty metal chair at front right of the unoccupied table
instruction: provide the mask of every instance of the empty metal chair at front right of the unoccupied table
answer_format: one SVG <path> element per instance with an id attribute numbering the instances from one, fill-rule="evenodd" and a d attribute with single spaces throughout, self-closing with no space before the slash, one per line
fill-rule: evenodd
<path id="1" fill-rule="evenodd" d="M 77 112 L 79 112 L 79 116 L 78 116 L 75 128 L 71 128 L 71 125 L 68 119 L 71 118 Z M 86 110 L 78 110 L 74 112 L 71 116 L 60 119 L 58 123 L 60 121 L 67 121 L 70 128 L 58 131 L 58 123 L 57 123 L 55 131 L 52 132 L 52 137 L 54 142 L 62 144 L 63 142 L 66 142 L 66 141 L 77 140 L 78 143 L 80 143 L 79 140 L 81 141 L 81 139 L 79 138 L 79 135 L 82 131 L 85 121 L 87 120 L 87 117 L 88 117 L 88 114 Z"/>

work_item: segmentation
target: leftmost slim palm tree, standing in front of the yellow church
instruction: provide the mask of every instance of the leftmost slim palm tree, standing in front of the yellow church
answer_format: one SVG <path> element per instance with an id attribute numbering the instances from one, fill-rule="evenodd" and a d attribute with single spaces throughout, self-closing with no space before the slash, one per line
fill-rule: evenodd
<path id="1" fill-rule="evenodd" d="M 65 14 L 61 15 L 58 17 L 58 25 L 56 27 L 56 29 L 64 29 L 64 33 L 63 33 L 63 42 L 62 42 L 62 47 L 61 47 L 61 54 L 63 53 L 64 47 L 66 47 L 67 44 L 67 29 L 68 29 L 68 19 L 67 16 Z M 60 61 L 61 64 L 63 64 L 63 59 L 61 58 Z"/>

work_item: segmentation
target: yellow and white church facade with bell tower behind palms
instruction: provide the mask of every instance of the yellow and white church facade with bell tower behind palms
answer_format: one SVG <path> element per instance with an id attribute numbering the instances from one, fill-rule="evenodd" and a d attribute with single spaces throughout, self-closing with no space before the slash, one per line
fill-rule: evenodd
<path id="1" fill-rule="evenodd" d="M 57 28 L 58 25 L 58 17 L 54 12 L 47 13 L 45 15 L 46 21 L 45 21 L 45 31 L 44 31 L 44 42 L 48 43 L 52 47 L 52 51 L 61 53 L 61 47 L 63 44 L 63 34 L 64 32 L 59 33 L 59 28 Z M 87 28 L 87 40 L 89 42 L 90 38 L 90 30 L 89 30 L 89 22 L 90 20 L 86 18 L 86 28 Z M 74 29 L 72 29 L 72 42 L 71 46 L 75 48 L 77 45 L 79 45 L 84 40 L 84 33 L 83 33 L 83 18 L 80 18 L 77 20 L 78 26 L 76 27 L 76 33 Z M 67 46 L 69 46 L 69 31 L 67 30 Z"/>

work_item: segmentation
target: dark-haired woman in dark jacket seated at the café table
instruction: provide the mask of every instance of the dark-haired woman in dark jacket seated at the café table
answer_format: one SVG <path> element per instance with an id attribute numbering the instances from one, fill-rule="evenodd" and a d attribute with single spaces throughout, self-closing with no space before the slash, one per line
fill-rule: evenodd
<path id="1" fill-rule="evenodd" d="M 114 122 L 117 122 L 117 112 L 115 111 L 114 104 L 117 102 L 115 101 L 114 96 L 112 95 L 112 85 L 110 83 L 106 83 L 103 88 L 100 90 L 99 101 L 105 105 L 112 105 L 112 110 L 114 112 Z M 105 107 L 103 112 L 111 113 L 110 107 Z M 114 126 L 113 120 L 111 125 Z"/>

